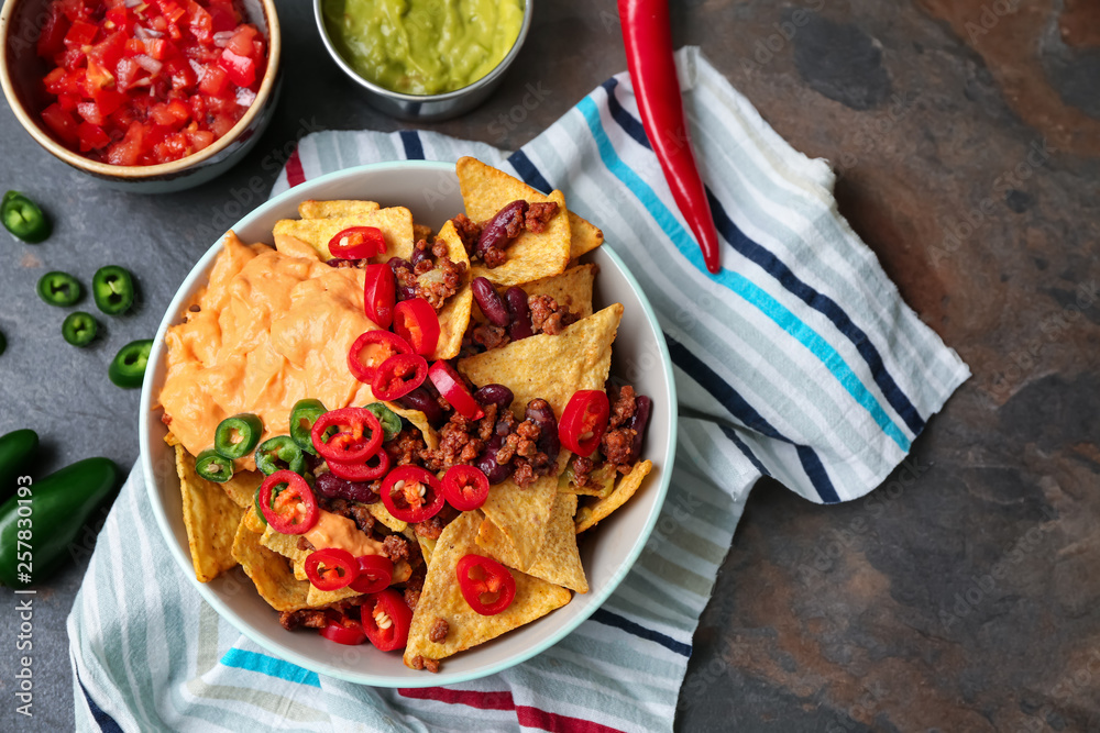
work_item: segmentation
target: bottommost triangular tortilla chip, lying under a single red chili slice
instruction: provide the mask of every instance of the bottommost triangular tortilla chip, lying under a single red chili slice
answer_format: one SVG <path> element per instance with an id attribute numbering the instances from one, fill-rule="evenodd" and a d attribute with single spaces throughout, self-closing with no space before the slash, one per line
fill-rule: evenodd
<path id="1" fill-rule="evenodd" d="M 471 609 L 459 590 L 454 574 L 462 557 L 471 553 L 483 554 L 474 542 L 481 521 L 479 512 L 463 512 L 439 536 L 413 614 L 408 646 L 405 647 L 406 665 L 411 667 L 417 656 L 442 659 L 487 642 L 561 608 L 572 598 L 564 588 L 512 570 L 516 597 L 507 609 L 496 615 L 481 615 Z M 449 626 L 447 637 L 438 643 L 428 638 L 437 619 L 443 619 Z"/>

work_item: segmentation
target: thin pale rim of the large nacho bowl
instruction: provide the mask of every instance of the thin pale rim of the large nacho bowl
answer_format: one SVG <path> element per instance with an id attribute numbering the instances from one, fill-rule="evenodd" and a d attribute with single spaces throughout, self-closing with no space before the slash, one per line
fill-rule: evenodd
<path id="1" fill-rule="evenodd" d="M 298 200 L 302 198 L 309 198 L 309 191 L 314 187 L 322 187 L 328 182 L 340 181 L 346 178 L 354 178 L 365 171 L 373 170 L 393 170 L 400 168 L 428 168 L 432 170 L 447 169 L 453 171 L 452 164 L 439 163 L 435 160 L 391 160 L 386 163 L 374 163 L 370 165 L 356 166 L 354 168 L 345 168 L 344 170 L 337 170 L 324 176 L 319 176 L 318 178 L 312 178 L 306 184 L 292 188 L 284 191 L 279 196 L 268 199 L 266 202 L 254 209 L 252 212 L 242 218 L 237 222 L 232 230 L 241 230 L 253 221 L 266 215 L 267 211 L 278 207 L 287 201 Z M 187 577 L 188 581 L 199 591 L 199 595 L 206 600 L 207 603 L 211 606 L 218 615 L 222 619 L 229 621 L 234 625 L 241 633 L 251 638 L 253 642 L 262 646 L 267 652 L 274 654 L 275 656 L 286 659 L 293 664 L 300 667 L 316 671 L 318 674 L 327 675 L 329 677 L 334 677 L 348 682 L 353 682 L 356 685 L 369 685 L 372 687 L 435 687 L 440 684 L 455 685 L 461 682 L 466 682 L 473 679 L 480 679 L 488 675 L 495 675 L 505 669 L 509 669 L 518 664 L 527 662 L 534 656 L 541 654 L 547 651 L 562 638 L 568 636 L 578 626 L 584 623 L 593 613 L 596 612 L 606 601 L 610 598 L 612 593 L 619 587 L 629 570 L 638 562 L 641 556 L 641 552 L 646 548 L 649 542 L 650 535 L 652 535 L 654 527 L 657 526 L 657 520 L 660 518 L 661 509 L 664 506 L 666 497 L 668 496 L 669 486 L 672 481 L 672 470 L 673 464 L 675 462 L 675 451 L 676 451 L 676 437 L 679 431 L 679 415 L 675 406 L 679 403 L 676 398 L 676 384 L 672 370 L 672 358 L 669 354 L 669 346 L 664 341 L 663 331 L 661 330 L 660 322 L 657 319 L 657 313 L 653 311 L 652 304 L 649 302 L 649 298 L 646 296 L 645 291 L 641 289 L 641 285 L 634 277 L 634 274 L 626 266 L 626 263 L 615 253 L 610 245 L 604 244 L 601 247 L 610 260 L 618 267 L 619 271 L 626 279 L 627 285 L 634 290 L 638 300 L 642 306 L 642 311 L 645 319 L 649 326 L 656 334 L 656 345 L 660 354 L 660 368 L 664 375 L 666 395 L 664 399 L 670 400 L 671 409 L 669 411 L 669 435 L 668 442 L 662 446 L 661 451 L 658 451 L 660 455 L 657 455 L 658 460 L 663 462 L 662 470 L 660 471 L 659 482 L 651 490 L 657 491 L 657 496 L 653 500 L 653 507 L 650 510 L 649 515 L 646 518 L 645 525 L 641 531 L 636 535 L 634 541 L 634 546 L 624 557 L 622 565 L 616 568 L 615 578 L 608 582 L 605 587 L 601 588 L 598 591 L 593 592 L 592 602 L 588 604 L 586 612 L 579 614 L 576 618 L 562 623 L 559 628 L 548 634 L 539 643 L 532 644 L 530 647 L 519 652 L 506 659 L 501 662 L 485 665 L 476 669 L 472 669 L 464 674 L 452 674 L 447 675 L 443 682 L 439 681 L 439 677 L 436 675 L 425 675 L 422 679 L 415 678 L 402 678 L 400 680 L 391 680 L 384 676 L 373 676 L 373 675 L 350 675 L 342 671 L 341 669 L 333 667 L 331 665 L 326 665 L 323 663 L 318 663 L 317 659 L 311 659 L 308 656 L 299 654 L 288 647 L 277 646 L 270 643 L 262 634 L 255 631 L 252 625 L 243 618 L 240 618 L 233 609 L 229 608 L 227 603 L 216 593 L 212 589 L 208 588 L 206 584 L 200 582 L 193 571 L 191 558 L 187 551 L 179 546 L 176 542 L 172 526 L 168 523 L 168 518 L 165 514 L 164 504 L 161 502 L 157 496 L 157 485 L 155 476 L 157 475 L 153 466 L 152 453 L 150 449 L 150 436 L 152 434 L 151 421 L 154 420 L 153 411 L 148 409 L 148 406 L 154 404 L 155 400 L 151 400 L 153 389 L 155 388 L 154 381 L 156 380 L 156 368 L 154 367 L 161 359 L 164 358 L 165 343 L 164 338 L 167 334 L 168 327 L 178 321 L 179 314 L 183 311 L 184 303 L 188 298 L 189 292 L 193 290 L 197 280 L 206 278 L 209 276 L 209 270 L 213 265 L 215 258 L 221 251 L 221 240 L 219 238 L 215 242 L 207 252 L 199 257 L 198 262 L 188 273 L 187 277 L 179 285 L 179 289 L 173 297 L 172 302 L 165 310 L 164 318 L 161 320 L 161 325 L 157 327 L 156 336 L 153 340 L 153 349 L 150 353 L 148 368 L 145 370 L 145 378 L 142 384 L 142 397 L 139 413 L 139 426 L 138 426 L 138 440 L 141 448 L 141 456 L 139 460 L 141 462 L 142 473 L 144 475 L 145 492 L 147 495 L 148 501 L 152 504 L 153 515 L 156 518 L 157 526 L 160 527 L 161 534 L 164 537 L 165 544 L 168 545 L 168 552 L 176 560 L 176 564 L 182 568 L 184 575 Z M 365 679 L 370 677 L 370 680 Z"/>

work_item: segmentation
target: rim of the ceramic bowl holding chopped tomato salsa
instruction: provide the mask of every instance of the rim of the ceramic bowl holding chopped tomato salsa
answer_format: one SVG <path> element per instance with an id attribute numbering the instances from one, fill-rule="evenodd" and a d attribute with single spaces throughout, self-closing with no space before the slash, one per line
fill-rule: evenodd
<path id="1" fill-rule="evenodd" d="M 224 152 L 230 145 L 235 143 L 240 136 L 249 130 L 255 119 L 273 99 L 273 92 L 278 81 L 278 66 L 282 57 L 283 42 L 279 30 L 278 13 L 275 8 L 275 0 L 257 0 L 264 9 L 264 16 L 267 23 L 267 67 L 264 69 L 264 80 L 260 84 L 260 91 L 244 115 L 237 121 L 229 132 L 216 140 L 213 143 L 202 148 L 198 153 L 193 153 L 178 160 L 160 163 L 153 166 L 116 166 L 109 163 L 99 163 L 91 158 L 70 151 L 65 147 L 38 124 L 26 108 L 23 101 L 15 95 L 14 85 L 11 82 L 11 71 L 8 68 L 8 33 L 11 27 L 11 19 L 15 14 L 15 7 L 26 0 L 6 0 L 3 8 L 0 8 L 0 87 L 8 98 L 8 104 L 15 114 L 15 119 L 23 129 L 34 138 L 36 143 L 46 148 L 54 157 L 64 160 L 74 168 L 96 176 L 106 176 L 121 180 L 140 181 L 145 179 L 156 179 L 164 176 L 173 176 L 189 168 L 209 160 L 218 154 Z"/>

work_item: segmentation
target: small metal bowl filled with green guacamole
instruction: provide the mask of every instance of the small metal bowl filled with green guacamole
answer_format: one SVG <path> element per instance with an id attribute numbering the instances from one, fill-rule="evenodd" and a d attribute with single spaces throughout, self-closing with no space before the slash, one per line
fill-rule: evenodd
<path id="1" fill-rule="evenodd" d="M 497 87 L 531 0 L 315 0 L 321 38 L 367 101 L 404 120 L 466 112 Z"/>

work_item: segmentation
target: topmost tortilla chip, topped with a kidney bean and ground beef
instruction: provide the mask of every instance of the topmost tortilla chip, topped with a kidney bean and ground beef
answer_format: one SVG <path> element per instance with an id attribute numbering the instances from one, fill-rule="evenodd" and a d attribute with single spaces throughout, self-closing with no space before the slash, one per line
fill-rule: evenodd
<path id="1" fill-rule="evenodd" d="M 486 277 L 498 285 L 521 285 L 565 269 L 570 257 L 570 221 L 561 191 L 544 196 L 503 170 L 471 157 L 459 158 L 455 171 L 466 216 L 474 221 L 492 219 L 517 199 L 529 203 L 554 201 L 559 208 L 542 233 L 525 230 L 508 245 L 508 258 L 503 265 L 474 267 L 473 277 Z"/>

